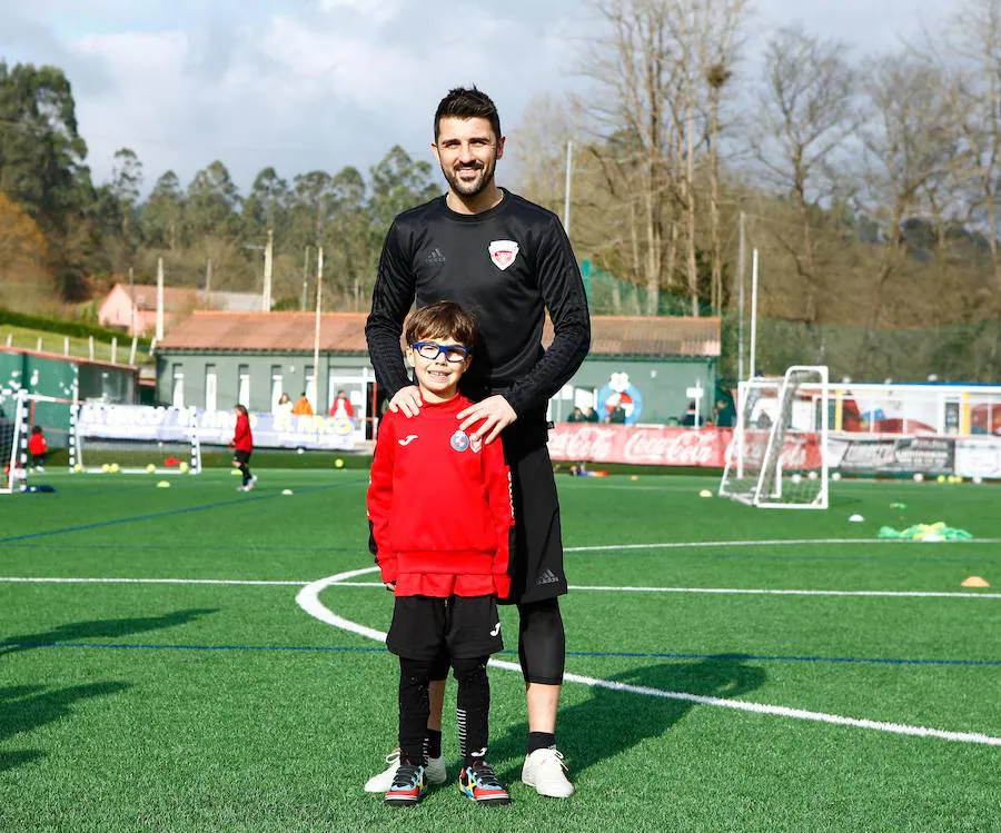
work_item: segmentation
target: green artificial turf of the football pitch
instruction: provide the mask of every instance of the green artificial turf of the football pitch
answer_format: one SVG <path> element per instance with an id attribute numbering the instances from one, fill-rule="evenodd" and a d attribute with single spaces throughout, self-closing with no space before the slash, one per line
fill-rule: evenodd
<path id="1" fill-rule="evenodd" d="M 400 811 L 361 791 L 394 745 L 395 660 L 296 602 L 371 566 L 367 474 L 259 474 L 238 494 L 218 469 L 166 489 L 56 473 L 38 478 L 56 494 L 0 497 L 0 830 L 1001 830 L 1001 746 L 880 728 L 1001 737 L 997 487 L 842 482 L 829 510 L 783 512 L 701 498 L 708 478 L 561 478 L 567 671 L 625 686 L 564 687 L 577 794 L 518 781 L 523 685 L 496 668 L 490 760 L 512 805 L 450 782 Z M 936 520 L 975 541 L 875 538 Z M 994 586 L 964 589 L 971 575 Z M 10 581 L 29 577 L 115 581 Z M 319 603 L 385 631 L 390 596 L 351 581 L 367 586 Z M 734 589 L 752 592 L 718 592 Z M 964 597 L 754 592 L 770 589 Z M 498 658 L 516 662 L 517 614 L 502 618 Z"/>

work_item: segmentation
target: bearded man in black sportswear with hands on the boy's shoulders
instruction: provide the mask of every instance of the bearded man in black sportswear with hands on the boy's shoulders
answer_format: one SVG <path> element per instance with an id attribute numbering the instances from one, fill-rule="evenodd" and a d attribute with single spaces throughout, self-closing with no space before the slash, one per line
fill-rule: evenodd
<path id="1" fill-rule="evenodd" d="M 433 149 L 448 194 L 394 220 L 366 325 L 368 348 L 379 385 L 392 397 L 390 409 L 414 415 L 420 397 L 399 347 L 410 306 L 454 300 L 477 318 L 479 340 L 462 383 L 476 404 L 458 414 L 456 428 L 486 443 L 499 437 L 512 470 L 516 541 L 508 601 L 521 616 L 518 656 L 528 707 L 522 780 L 542 795 L 567 797 L 573 786 L 555 738 L 565 661 L 557 597 L 566 593 L 566 577 L 546 405 L 587 355 L 587 300 L 559 219 L 494 182 L 504 138 L 487 96 L 475 88 L 452 90 L 435 113 Z M 546 310 L 555 337 L 543 350 Z M 443 664 L 440 682 L 432 684 L 429 758 L 440 757 L 446 672 Z M 394 766 L 366 789 L 379 792 L 379 779 L 392 779 Z"/>

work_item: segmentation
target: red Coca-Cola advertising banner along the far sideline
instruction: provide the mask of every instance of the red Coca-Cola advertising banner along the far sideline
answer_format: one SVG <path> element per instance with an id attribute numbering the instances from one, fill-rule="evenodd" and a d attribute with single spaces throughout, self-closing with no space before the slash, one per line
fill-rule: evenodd
<path id="1" fill-rule="evenodd" d="M 549 432 L 549 456 L 576 463 L 625 463 L 645 466 L 701 466 L 723 468 L 731 428 L 678 428 L 558 423 Z M 749 442 L 744 459 L 764 453 L 765 443 Z M 820 468 L 820 446 L 814 435 L 787 435 L 782 453 L 786 470 Z"/>

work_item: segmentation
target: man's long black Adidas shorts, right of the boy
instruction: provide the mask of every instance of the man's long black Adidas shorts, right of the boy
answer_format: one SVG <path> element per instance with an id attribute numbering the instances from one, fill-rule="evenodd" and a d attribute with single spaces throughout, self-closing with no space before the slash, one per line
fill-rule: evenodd
<path id="1" fill-rule="evenodd" d="M 515 539 L 507 567 L 511 595 L 503 599 L 505 604 L 541 602 L 566 593 L 548 435 L 545 417 L 539 415 L 526 415 L 500 435 L 515 510 Z"/>

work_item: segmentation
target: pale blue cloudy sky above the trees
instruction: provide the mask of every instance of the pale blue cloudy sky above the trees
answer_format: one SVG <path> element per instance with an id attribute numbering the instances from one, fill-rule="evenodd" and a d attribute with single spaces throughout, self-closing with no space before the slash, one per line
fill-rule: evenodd
<path id="1" fill-rule="evenodd" d="M 952 0 L 955 2 L 955 0 Z M 794 22 L 859 57 L 934 30 L 950 0 L 752 0 L 747 60 Z M 72 85 L 96 182 L 132 148 L 148 190 L 221 159 L 246 194 L 266 166 L 291 180 L 363 171 L 393 145 L 433 161 L 442 96 L 476 83 L 508 148 L 538 96 L 586 95 L 599 32 L 587 0 L 0 0 L 0 58 Z M 498 176 L 503 182 L 503 173 Z"/>

